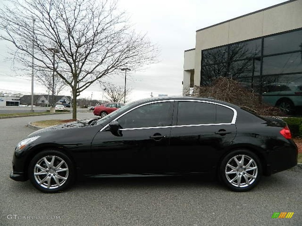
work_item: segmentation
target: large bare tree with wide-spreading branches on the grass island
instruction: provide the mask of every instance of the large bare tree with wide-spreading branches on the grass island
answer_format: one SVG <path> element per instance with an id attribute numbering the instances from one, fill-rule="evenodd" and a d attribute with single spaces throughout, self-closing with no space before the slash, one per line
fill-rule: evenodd
<path id="1" fill-rule="evenodd" d="M 53 71 L 72 88 L 76 99 L 92 83 L 120 68 L 138 70 L 156 62 L 158 48 L 145 35 L 131 30 L 117 1 L 106 0 L 7 0 L 0 8 L 0 39 L 14 44 L 15 60 Z M 34 39 L 33 18 L 35 19 Z"/>

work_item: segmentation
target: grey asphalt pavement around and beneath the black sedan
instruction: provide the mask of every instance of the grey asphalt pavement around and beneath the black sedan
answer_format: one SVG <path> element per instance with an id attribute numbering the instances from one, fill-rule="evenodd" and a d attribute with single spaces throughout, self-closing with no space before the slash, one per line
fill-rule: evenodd
<path id="1" fill-rule="evenodd" d="M 0 119 L 1 226 L 302 225 L 301 169 L 263 177 L 247 193 L 235 193 L 212 178 L 199 177 L 93 179 L 76 182 L 71 189 L 57 194 L 41 193 L 29 181 L 11 180 L 14 147 L 34 131 L 25 125 L 70 117 Z M 88 112 L 78 114 L 78 118 L 92 117 Z M 272 219 L 274 212 L 294 215 L 291 219 Z"/>

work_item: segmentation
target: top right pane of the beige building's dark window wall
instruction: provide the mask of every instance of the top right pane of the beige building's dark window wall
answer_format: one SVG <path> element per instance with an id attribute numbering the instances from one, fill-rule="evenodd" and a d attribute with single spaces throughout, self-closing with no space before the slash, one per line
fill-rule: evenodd
<path id="1" fill-rule="evenodd" d="M 263 55 L 301 50 L 302 30 L 266 37 L 263 40 Z"/>

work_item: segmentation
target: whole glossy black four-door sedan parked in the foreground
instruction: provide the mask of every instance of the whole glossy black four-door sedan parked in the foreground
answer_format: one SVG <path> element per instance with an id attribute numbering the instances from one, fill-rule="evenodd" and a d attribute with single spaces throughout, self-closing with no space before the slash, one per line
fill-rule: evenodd
<path id="1" fill-rule="evenodd" d="M 284 121 L 213 99 L 165 97 L 31 133 L 15 148 L 10 177 L 53 193 L 82 176 L 207 173 L 247 191 L 296 164 Z"/>

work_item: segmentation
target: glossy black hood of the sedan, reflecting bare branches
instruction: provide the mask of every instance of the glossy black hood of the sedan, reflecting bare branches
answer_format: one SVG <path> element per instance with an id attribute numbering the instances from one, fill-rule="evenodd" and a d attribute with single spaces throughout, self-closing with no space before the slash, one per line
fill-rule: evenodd
<path id="1" fill-rule="evenodd" d="M 59 124 L 55 126 L 46 127 L 40 130 L 35 131 L 34 133 L 29 134 L 27 137 L 33 137 L 37 135 L 41 135 L 42 133 L 49 132 L 52 130 L 68 130 L 68 129 L 75 129 L 75 128 L 81 128 L 81 127 L 88 127 L 90 126 L 90 121 L 92 119 L 85 119 L 85 120 L 79 120 L 74 122 L 69 122 L 65 124 Z"/>

